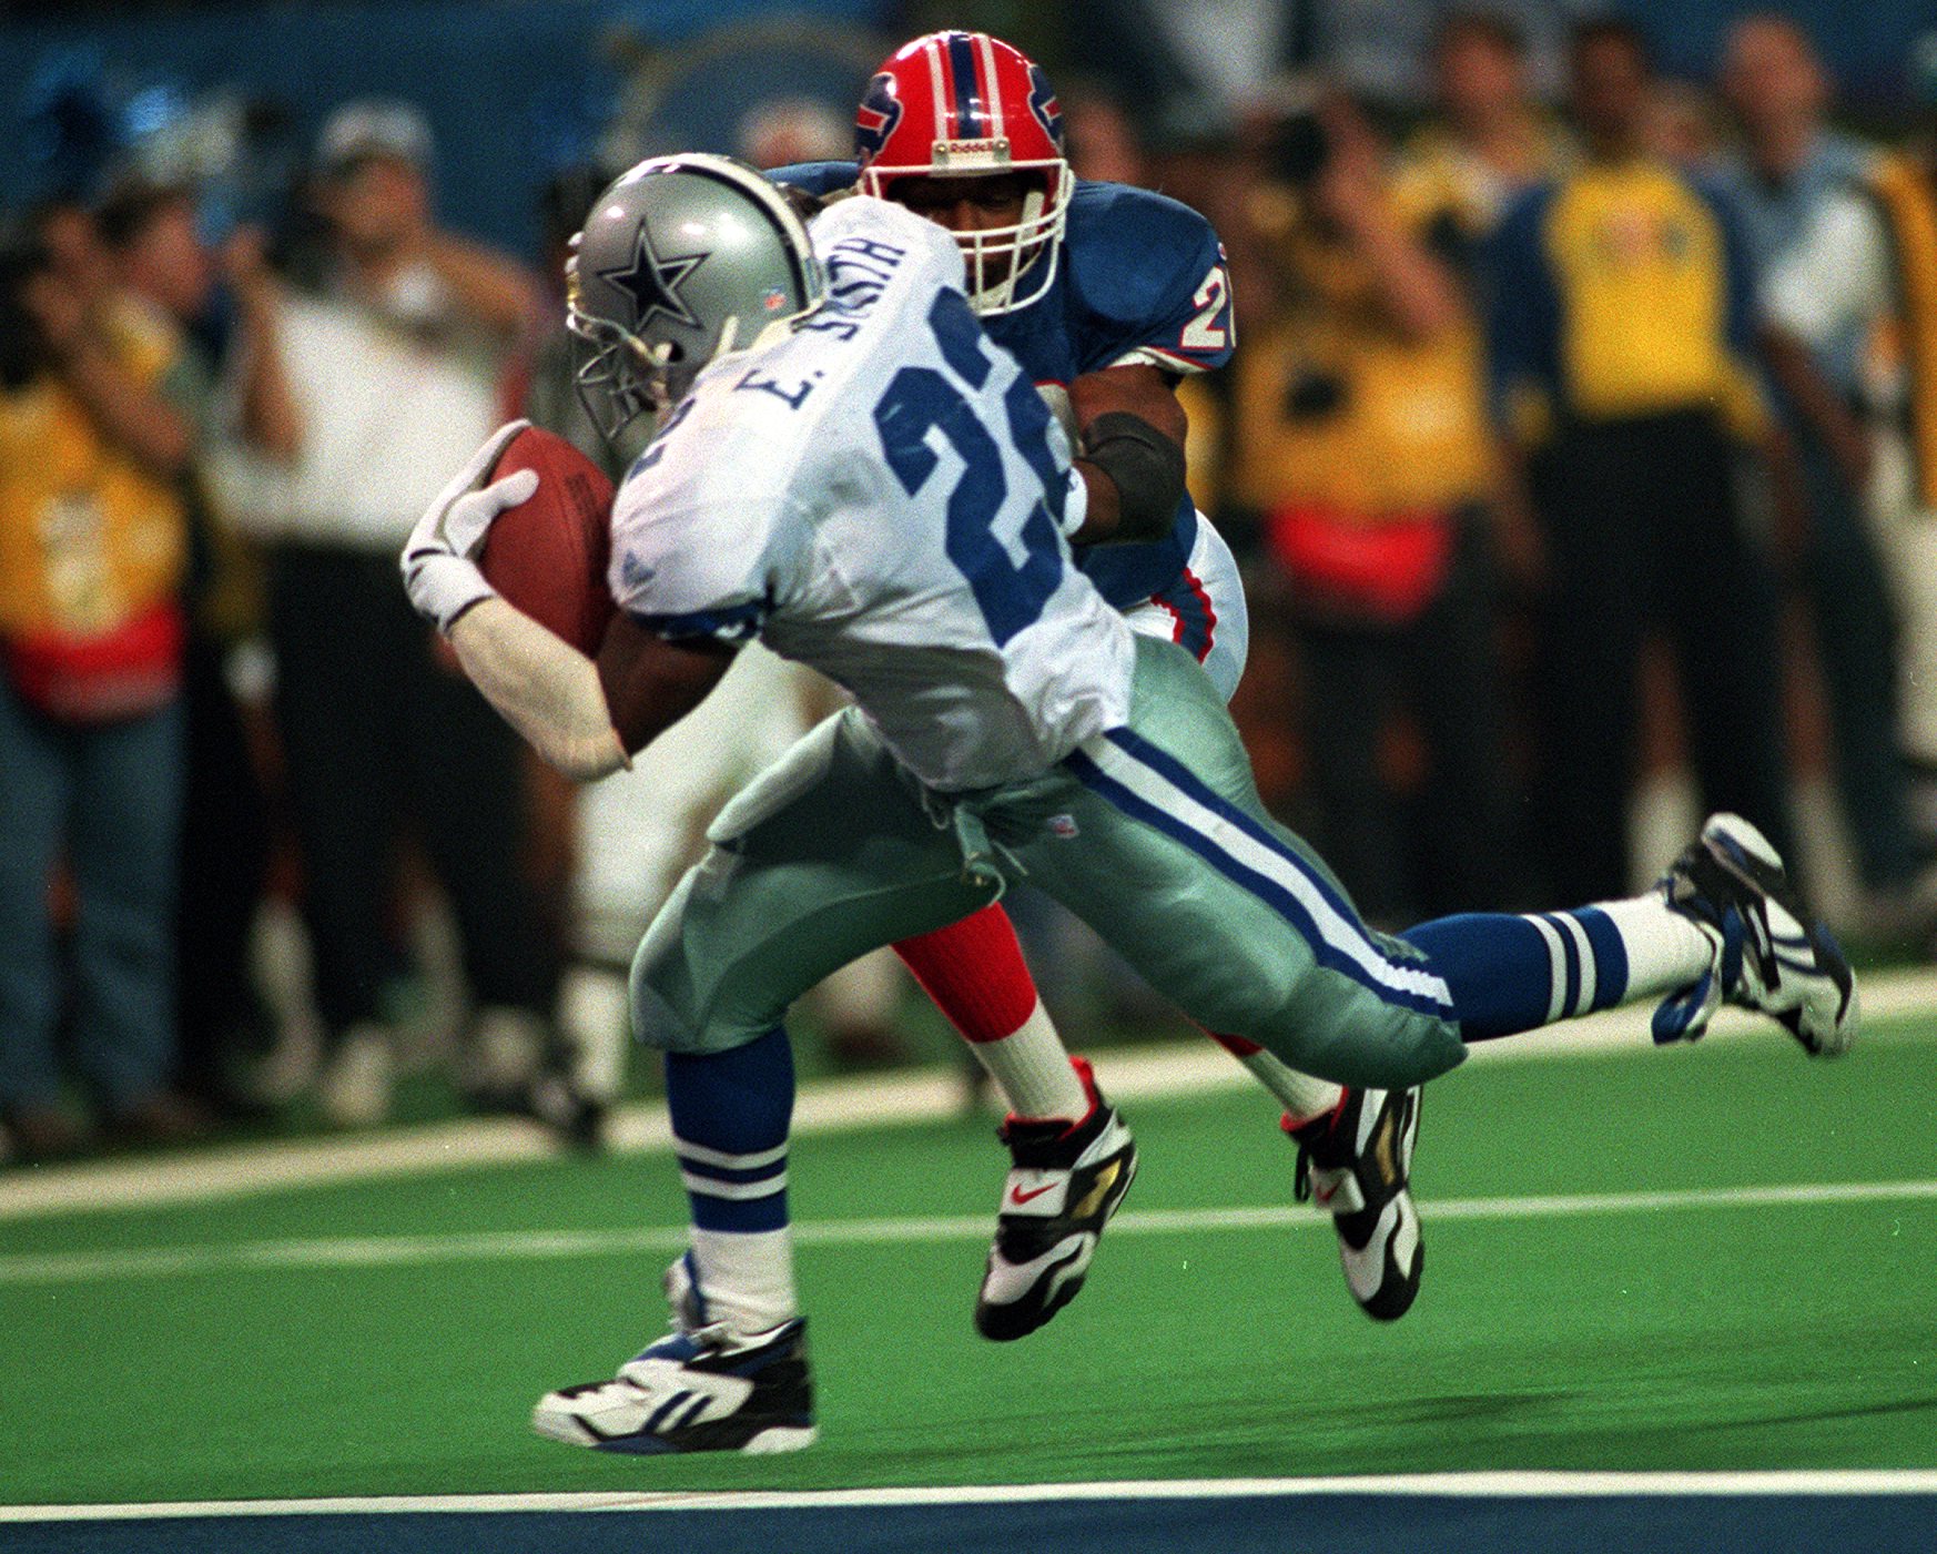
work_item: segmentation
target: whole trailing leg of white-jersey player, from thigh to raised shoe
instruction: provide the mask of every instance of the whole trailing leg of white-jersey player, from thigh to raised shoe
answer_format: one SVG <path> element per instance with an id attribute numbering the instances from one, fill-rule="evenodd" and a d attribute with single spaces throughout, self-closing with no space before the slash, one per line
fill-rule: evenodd
<path id="1" fill-rule="evenodd" d="M 1662 992 L 1677 994 L 1664 1039 L 1693 1035 L 1722 998 L 1811 1048 L 1840 1050 L 1854 1029 L 1840 953 L 1732 816 L 1639 901 L 1553 922 L 1449 918 L 1406 942 L 1364 928 L 1323 862 L 1265 816 L 1236 730 L 1174 649 L 1139 641 L 1131 725 L 1065 771 L 1073 785 L 994 806 L 1034 882 L 1207 1027 L 1340 1083 L 1408 1087 L 1462 1058 L 1462 1029 L 1511 1035 Z M 1058 804 L 1061 824 L 1044 824 Z"/>

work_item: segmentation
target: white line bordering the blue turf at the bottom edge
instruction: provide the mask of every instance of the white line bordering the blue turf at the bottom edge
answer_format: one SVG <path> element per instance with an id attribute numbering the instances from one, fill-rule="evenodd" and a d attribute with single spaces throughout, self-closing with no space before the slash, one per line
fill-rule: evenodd
<path id="1" fill-rule="evenodd" d="M 959 1484 L 879 1490 L 659 1494 L 385 1494 L 339 1500 L 163 1500 L 145 1506 L 0 1506 L 0 1523 L 165 1517 L 401 1515 L 422 1511 L 812 1511 L 866 1506 L 986 1506 L 1038 1500 L 1244 1500 L 1302 1494 L 1478 1498 L 1937 1494 L 1923 1469 L 1782 1473 L 1408 1473 L 1362 1478 L 1123 1478 L 1083 1484 Z"/>

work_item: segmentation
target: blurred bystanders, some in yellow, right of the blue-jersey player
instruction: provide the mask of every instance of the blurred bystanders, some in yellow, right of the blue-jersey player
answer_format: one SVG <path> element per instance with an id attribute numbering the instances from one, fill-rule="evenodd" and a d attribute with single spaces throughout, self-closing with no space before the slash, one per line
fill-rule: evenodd
<path id="1" fill-rule="evenodd" d="M 1929 165 L 1834 130 L 1774 14 L 1708 83 L 1614 19 L 1573 29 L 1563 101 L 1526 66 L 1511 21 L 1445 17 L 1397 140 L 1300 83 L 1220 223 L 1222 494 L 1302 709 L 1282 802 L 1373 920 L 1617 895 L 1699 804 L 1836 874 L 1860 936 L 1927 934 L 1927 502 L 1877 459 L 1916 463 L 1931 320 L 1881 273 L 1825 296 L 1834 234 Z"/>

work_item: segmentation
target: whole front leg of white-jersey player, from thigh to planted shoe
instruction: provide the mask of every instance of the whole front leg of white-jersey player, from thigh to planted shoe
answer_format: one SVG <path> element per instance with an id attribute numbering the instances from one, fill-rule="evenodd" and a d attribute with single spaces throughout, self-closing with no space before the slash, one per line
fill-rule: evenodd
<path id="1" fill-rule="evenodd" d="M 693 1215 L 668 1275 L 672 1331 L 610 1382 L 548 1393 L 556 1440 L 610 1451 L 779 1451 L 812 1442 L 786 1217 L 788 1004 L 895 938 L 986 905 L 953 837 L 852 713 L 829 719 L 709 829 L 633 961 L 633 1025 L 666 1052 Z"/>

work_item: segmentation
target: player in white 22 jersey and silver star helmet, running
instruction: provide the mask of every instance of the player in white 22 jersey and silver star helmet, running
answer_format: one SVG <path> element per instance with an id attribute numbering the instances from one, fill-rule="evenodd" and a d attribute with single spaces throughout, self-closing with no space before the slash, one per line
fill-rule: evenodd
<path id="1" fill-rule="evenodd" d="M 752 636 L 856 705 L 721 812 L 639 946 L 633 1006 L 664 1048 L 690 1250 L 666 1275 L 672 1331 L 614 1380 L 540 1399 L 542 1434 L 631 1453 L 814 1440 L 784 1011 L 829 969 L 1025 874 L 1203 1025 L 1342 1085 L 1412 1087 L 1468 1041 L 1635 998 L 1664 1000 L 1660 1041 L 1701 1035 L 1722 1000 L 1811 1052 L 1852 1041 L 1848 963 L 1732 816 L 1637 899 L 1368 930 L 1265 814 L 1195 659 L 1133 634 L 1071 564 L 1071 537 L 1122 517 L 1091 512 L 932 223 L 862 198 L 810 236 L 750 169 L 641 163 L 587 219 L 573 327 L 593 403 L 614 420 L 664 411 L 614 508 L 620 616 L 597 661 L 471 560 L 535 488 L 529 471 L 484 484 L 517 422 L 413 533 L 413 603 L 579 779 L 670 727 Z M 1129 1170 L 1120 1155 L 1085 1196 L 1120 1194 Z M 1056 1174 L 1015 1196 L 1056 1217 L 1067 1190 Z M 1079 1230 L 1044 1254 L 1052 1300 L 1092 1244 Z"/>

